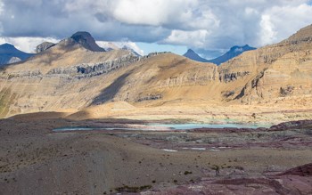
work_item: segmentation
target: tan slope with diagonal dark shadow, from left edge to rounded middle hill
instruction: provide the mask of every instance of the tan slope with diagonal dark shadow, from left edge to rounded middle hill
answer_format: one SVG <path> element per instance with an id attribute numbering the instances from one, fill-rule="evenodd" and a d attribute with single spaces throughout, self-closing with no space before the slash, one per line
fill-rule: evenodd
<path id="1" fill-rule="evenodd" d="M 111 101 L 145 105 L 181 96 L 194 100 L 205 96 L 215 98 L 209 96 L 210 90 L 204 90 L 218 80 L 217 67 L 212 64 L 196 63 L 172 53 L 152 53 L 144 58 L 126 55 L 106 62 L 103 58 L 103 61 L 62 68 L 40 64 L 50 69 L 23 74 L 12 72 L 17 65 L 8 67 L 1 75 L 1 114 L 76 111 Z M 35 68 L 29 62 L 21 66 Z"/>

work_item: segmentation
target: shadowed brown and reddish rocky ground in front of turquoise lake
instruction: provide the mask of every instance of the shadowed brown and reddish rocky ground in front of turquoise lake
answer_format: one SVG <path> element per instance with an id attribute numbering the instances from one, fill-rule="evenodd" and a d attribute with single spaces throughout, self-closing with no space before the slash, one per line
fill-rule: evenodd
<path id="1" fill-rule="evenodd" d="M 38 116 L 0 121 L 0 194 L 312 193 L 311 121 L 125 131 L 146 121 Z M 63 126 L 116 130 L 53 132 Z"/>

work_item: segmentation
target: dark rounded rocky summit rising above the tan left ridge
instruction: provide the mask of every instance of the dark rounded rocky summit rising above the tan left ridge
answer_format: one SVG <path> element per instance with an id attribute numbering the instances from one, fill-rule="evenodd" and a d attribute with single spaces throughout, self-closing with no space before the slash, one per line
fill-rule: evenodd
<path id="1" fill-rule="evenodd" d="M 94 37 L 92 37 L 91 34 L 88 32 L 79 31 L 72 35 L 70 38 L 85 47 L 87 50 L 91 50 L 93 52 L 105 52 L 103 48 L 95 43 Z"/>

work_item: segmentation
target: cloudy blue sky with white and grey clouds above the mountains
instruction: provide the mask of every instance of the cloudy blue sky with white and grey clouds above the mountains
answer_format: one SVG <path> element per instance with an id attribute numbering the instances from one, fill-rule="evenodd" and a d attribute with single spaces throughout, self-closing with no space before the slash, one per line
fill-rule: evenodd
<path id="1" fill-rule="evenodd" d="M 311 16 L 311 0 L 0 0 L 0 44 L 33 52 L 88 31 L 144 54 L 192 48 L 209 59 L 233 45 L 277 43 Z"/>

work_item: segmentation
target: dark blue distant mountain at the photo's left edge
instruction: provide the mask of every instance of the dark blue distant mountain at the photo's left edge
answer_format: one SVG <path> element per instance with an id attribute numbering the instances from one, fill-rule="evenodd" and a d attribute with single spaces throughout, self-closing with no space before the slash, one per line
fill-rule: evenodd
<path id="1" fill-rule="evenodd" d="M 16 49 L 14 45 L 0 45 L 0 66 L 18 61 L 25 61 L 32 55 L 32 53 L 21 52 L 20 50 Z"/>

